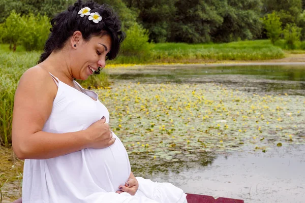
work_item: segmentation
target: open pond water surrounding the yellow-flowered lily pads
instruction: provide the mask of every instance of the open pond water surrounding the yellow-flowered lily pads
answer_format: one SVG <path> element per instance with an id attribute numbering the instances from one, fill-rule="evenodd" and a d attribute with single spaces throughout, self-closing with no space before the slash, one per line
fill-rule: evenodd
<path id="1" fill-rule="evenodd" d="M 251 145 L 238 147 L 235 151 L 228 150 L 230 148 L 207 150 L 196 154 L 192 161 L 177 156 L 174 161 L 141 165 L 136 160 L 140 160 L 142 155 L 134 154 L 130 159 L 133 164 L 137 164 L 133 166 L 136 176 L 170 182 L 187 193 L 238 198 L 245 202 L 305 202 L 305 145 L 300 141 L 305 138 L 305 66 L 171 65 L 135 66 L 107 71 L 116 84 L 164 83 L 176 84 L 179 88 L 186 83 L 212 83 L 248 94 L 286 94 L 292 103 L 297 99 L 296 120 L 287 121 L 286 125 L 297 123 L 298 132 L 295 136 L 299 142 L 281 141 L 282 147 L 271 145 L 267 151 L 254 150 Z M 290 111 L 293 109 L 290 108 Z M 274 142 L 274 139 L 269 142 Z"/>

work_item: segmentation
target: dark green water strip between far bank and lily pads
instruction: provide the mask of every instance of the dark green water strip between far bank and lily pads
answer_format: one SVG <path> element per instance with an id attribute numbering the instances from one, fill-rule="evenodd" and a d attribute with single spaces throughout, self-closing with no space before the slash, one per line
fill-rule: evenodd
<path id="1" fill-rule="evenodd" d="M 289 93 L 305 95 L 305 66 L 251 65 L 218 67 L 164 66 L 149 69 L 108 70 L 112 79 L 141 83 L 206 83 L 224 84 L 231 88 L 255 93 Z"/>

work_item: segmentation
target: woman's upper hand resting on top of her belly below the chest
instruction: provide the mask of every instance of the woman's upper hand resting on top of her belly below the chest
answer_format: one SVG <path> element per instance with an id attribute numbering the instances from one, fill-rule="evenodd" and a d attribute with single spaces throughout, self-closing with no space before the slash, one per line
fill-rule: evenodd
<path id="1" fill-rule="evenodd" d="M 108 123 L 105 122 L 106 118 L 103 116 L 101 120 L 85 129 L 89 139 L 87 148 L 102 149 L 109 147 L 115 142 L 115 138 L 112 137 L 112 131 Z"/>

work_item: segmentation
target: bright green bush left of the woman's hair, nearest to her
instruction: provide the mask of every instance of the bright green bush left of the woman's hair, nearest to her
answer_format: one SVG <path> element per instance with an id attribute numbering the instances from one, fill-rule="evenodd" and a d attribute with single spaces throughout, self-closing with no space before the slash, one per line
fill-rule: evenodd
<path id="1" fill-rule="evenodd" d="M 42 50 L 50 33 L 50 19 L 44 15 L 35 16 L 30 13 L 22 17 L 22 35 L 20 36 L 20 44 L 26 50 Z"/>

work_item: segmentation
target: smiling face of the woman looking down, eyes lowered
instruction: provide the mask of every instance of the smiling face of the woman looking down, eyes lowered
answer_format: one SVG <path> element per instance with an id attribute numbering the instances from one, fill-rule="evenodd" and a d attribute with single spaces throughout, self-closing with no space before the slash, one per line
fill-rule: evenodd
<path id="1" fill-rule="evenodd" d="M 98 67 L 105 67 L 106 55 L 111 48 L 109 35 L 92 37 L 89 41 L 81 40 L 75 47 L 73 61 L 71 61 L 72 75 L 76 79 L 86 80 Z"/>

